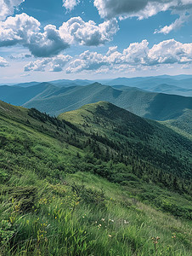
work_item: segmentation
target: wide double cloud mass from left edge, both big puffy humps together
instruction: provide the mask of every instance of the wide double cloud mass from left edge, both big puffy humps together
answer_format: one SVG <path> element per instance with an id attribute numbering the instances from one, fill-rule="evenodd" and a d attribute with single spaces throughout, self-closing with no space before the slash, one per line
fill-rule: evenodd
<path id="1" fill-rule="evenodd" d="M 15 15 L 0 21 L 0 47 L 22 44 L 37 57 L 58 55 L 71 44 L 98 46 L 109 42 L 119 27 L 116 19 L 107 20 L 97 26 L 93 20 L 85 22 L 74 17 L 57 29 L 47 25 L 40 31 L 40 22 L 26 15 Z"/>

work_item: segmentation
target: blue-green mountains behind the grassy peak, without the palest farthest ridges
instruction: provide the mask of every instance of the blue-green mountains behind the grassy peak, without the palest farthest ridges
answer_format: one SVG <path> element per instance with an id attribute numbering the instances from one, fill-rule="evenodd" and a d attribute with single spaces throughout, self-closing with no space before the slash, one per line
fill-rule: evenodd
<path id="1" fill-rule="evenodd" d="M 125 85 L 111 87 L 99 83 L 71 87 L 57 87 L 48 83 L 27 88 L 0 86 L 0 95 L 5 102 L 25 108 L 37 108 L 55 116 L 88 103 L 106 101 L 141 117 L 159 121 L 172 120 L 169 125 L 178 127 L 178 131 L 183 130 L 188 135 L 192 130 L 192 97 L 149 92 Z"/>

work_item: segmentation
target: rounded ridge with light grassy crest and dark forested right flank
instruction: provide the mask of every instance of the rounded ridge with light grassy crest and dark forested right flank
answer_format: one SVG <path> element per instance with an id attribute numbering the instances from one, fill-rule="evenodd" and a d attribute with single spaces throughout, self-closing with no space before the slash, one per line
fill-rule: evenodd
<path id="1" fill-rule="evenodd" d="M 188 173 L 186 173 L 187 176 L 191 175 L 191 160 L 188 166 L 180 166 L 178 170 L 175 165 L 178 157 L 181 159 L 184 157 L 178 156 L 178 148 L 183 148 L 185 154 L 188 152 L 187 155 L 190 159 L 191 143 L 154 121 L 141 119 L 109 102 L 89 104 L 78 110 L 62 113 L 59 115 L 59 119 L 65 119 L 90 134 L 99 134 L 112 140 L 115 144 L 119 144 L 121 153 L 124 155 L 130 154 L 132 148 L 133 155 L 138 154 L 141 159 L 150 160 L 154 166 L 161 166 L 162 170 L 172 170 L 172 172 L 178 173 L 178 176 L 182 176 L 185 169 Z M 169 151 L 170 145 L 172 145 L 172 153 L 167 154 L 165 158 L 165 151 Z M 143 149 L 139 150 L 139 148 Z M 174 162 L 174 167 L 171 169 L 170 166 L 167 167 L 169 158 L 170 163 Z"/>

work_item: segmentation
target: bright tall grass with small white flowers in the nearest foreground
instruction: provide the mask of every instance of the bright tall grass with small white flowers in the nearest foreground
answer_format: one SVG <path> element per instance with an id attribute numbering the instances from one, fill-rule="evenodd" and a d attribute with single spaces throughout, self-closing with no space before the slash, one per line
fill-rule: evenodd
<path id="1" fill-rule="evenodd" d="M 33 180 L 31 185 L 37 188 L 30 212 L 22 212 L 21 201 L 1 205 L 1 229 L 4 222 L 10 224 L 1 241 L 3 255 L 189 256 L 191 223 L 133 200 L 120 185 L 82 172 L 55 185 L 35 176 L 28 173 L 30 181 L 25 180 Z M 18 191 L 20 183 L 25 187 L 23 177 L 14 182 Z M 87 190 L 103 189 L 104 202 L 88 203 L 72 190 L 74 183 L 83 183 Z M 155 247 L 151 238 L 157 236 Z"/>

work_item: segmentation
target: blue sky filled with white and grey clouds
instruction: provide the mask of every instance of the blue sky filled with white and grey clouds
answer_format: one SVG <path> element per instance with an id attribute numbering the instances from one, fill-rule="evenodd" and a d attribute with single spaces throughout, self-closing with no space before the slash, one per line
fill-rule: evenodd
<path id="1" fill-rule="evenodd" d="M 0 6 L 0 84 L 192 73 L 192 0 Z"/>

